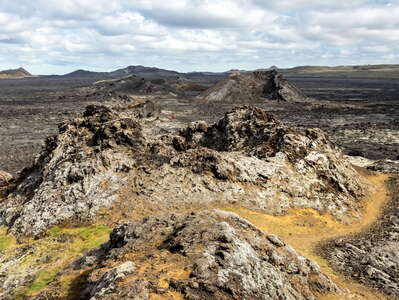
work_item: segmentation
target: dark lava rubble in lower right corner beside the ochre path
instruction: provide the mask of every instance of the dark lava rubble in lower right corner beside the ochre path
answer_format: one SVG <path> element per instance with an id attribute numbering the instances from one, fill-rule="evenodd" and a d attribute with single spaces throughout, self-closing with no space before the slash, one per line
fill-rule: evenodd
<path id="1" fill-rule="evenodd" d="M 389 182 L 392 202 L 368 232 L 325 245 L 332 266 L 355 280 L 399 299 L 399 178 Z"/>

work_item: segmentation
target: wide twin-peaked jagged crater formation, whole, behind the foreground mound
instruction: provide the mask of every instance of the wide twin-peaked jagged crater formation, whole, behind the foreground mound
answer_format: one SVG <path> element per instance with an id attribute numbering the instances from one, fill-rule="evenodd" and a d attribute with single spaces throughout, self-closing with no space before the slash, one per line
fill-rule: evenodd
<path id="1" fill-rule="evenodd" d="M 137 108 L 90 106 L 61 124 L 3 201 L 0 224 L 37 236 L 115 203 L 138 214 L 238 205 L 360 216 L 367 182 L 321 130 L 290 128 L 250 106 L 177 133 L 170 121 L 140 116 Z"/>

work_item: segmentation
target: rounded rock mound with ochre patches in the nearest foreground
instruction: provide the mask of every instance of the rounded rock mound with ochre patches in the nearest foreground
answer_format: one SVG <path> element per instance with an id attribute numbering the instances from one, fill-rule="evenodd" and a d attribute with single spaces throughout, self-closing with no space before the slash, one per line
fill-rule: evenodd
<path id="1" fill-rule="evenodd" d="M 311 300 L 340 293 L 317 264 L 233 213 L 164 214 L 116 228 L 75 268 L 95 269 L 81 298 Z"/>

